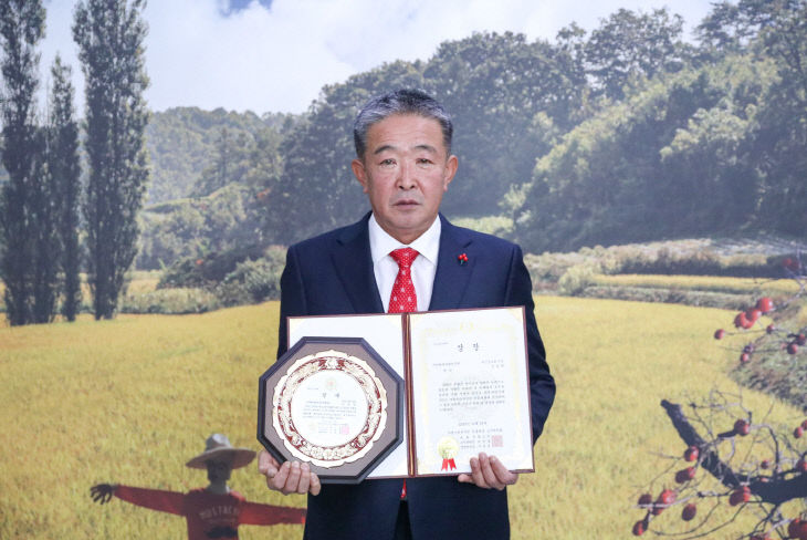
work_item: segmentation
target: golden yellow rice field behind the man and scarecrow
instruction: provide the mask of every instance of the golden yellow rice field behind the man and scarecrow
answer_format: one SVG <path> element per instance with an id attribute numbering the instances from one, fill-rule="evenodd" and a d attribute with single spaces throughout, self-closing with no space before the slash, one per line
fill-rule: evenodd
<path id="1" fill-rule="evenodd" d="M 659 402 L 740 392 L 735 353 L 712 340 L 733 313 L 674 304 L 539 297 L 536 318 L 558 394 L 536 446 L 536 472 L 510 491 L 514 539 L 625 539 L 637 496 L 682 443 Z M 200 315 L 120 315 L 0 328 L 0 538 L 185 538 L 185 521 L 113 499 L 107 481 L 185 491 L 185 463 L 213 432 L 258 449 L 256 381 L 274 359 L 277 303 Z M 746 406 L 771 398 L 742 391 Z M 775 404 L 772 418 L 800 413 Z M 658 478 L 657 478 L 658 477 Z M 253 466 L 231 486 L 248 500 L 304 506 L 265 489 Z M 672 515 L 663 520 L 675 523 Z M 679 520 L 680 521 L 680 520 Z M 742 520 L 711 538 L 737 538 Z M 736 530 L 736 534 L 731 534 Z M 302 537 L 300 526 L 241 527 L 242 539 Z"/>

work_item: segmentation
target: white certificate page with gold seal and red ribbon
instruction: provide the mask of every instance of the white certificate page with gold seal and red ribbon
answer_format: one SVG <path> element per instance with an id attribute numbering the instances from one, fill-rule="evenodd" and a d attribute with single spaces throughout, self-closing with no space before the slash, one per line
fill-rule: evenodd
<path id="1" fill-rule="evenodd" d="M 409 332 L 418 475 L 470 472 L 480 451 L 532 470 L 523 310 L 412 313 Z"/>

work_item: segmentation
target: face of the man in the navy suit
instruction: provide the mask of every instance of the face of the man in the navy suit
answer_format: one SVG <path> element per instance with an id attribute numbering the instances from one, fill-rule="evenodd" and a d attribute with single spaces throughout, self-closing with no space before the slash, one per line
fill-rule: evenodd
<path id="1" fill-rule="evenodd" d="M 364 159 L 354 159 L 352 167 L 378 225 L 411 243 L 437 218 L 457 164 L 455 156 L 448 156 L 438 121 L 395 114 L 370 126 Z"/>

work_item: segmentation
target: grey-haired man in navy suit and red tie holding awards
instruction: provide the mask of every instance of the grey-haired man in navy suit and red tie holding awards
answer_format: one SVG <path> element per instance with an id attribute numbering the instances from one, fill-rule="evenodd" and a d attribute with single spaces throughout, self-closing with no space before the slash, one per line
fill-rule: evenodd
<path id="1" fill-rule="evenodd" d="M 535 440 L 555 383 L 535 324 L 530 274 L 517 246 L 454 227 L 439 215 L 458 167 L 452 129 L 443 107 L 419 91 L 375 97 L 359 112 L 352 167 L 373 211 L 355 225 L 289 248 L 277 355 L 287 349 L 286 318 L 292 315 L 524 305 Z M 410 303 L 399 303 L 401 289 Z M 307 464 L 281 466 L 265 451 L 259 456 L 270 488 L 308 492 L 306 539 L 509 538 L 504 488 L 517 475 L 484 454 L 470 466 L 470 475 L 457 478 L 321 486 Z"/>

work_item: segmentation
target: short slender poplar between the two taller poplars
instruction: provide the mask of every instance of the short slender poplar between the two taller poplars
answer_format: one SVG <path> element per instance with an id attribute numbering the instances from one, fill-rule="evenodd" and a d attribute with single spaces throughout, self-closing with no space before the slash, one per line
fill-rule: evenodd
<path id="1" fill-rule="evenodd" d="M 51 76 L 50 139 L 48 167 L 53 180 L 53 197 L 57 205 L 59 236 L 61 238 L 61 269 L 64 276 L 62 314 L 74 321 L 81 304 L 81 250 L 78 245 L 78 196 L 81 163 L 78 160 L 78 125 L 74 118 L 71 69 L 59 55 Z"/>

